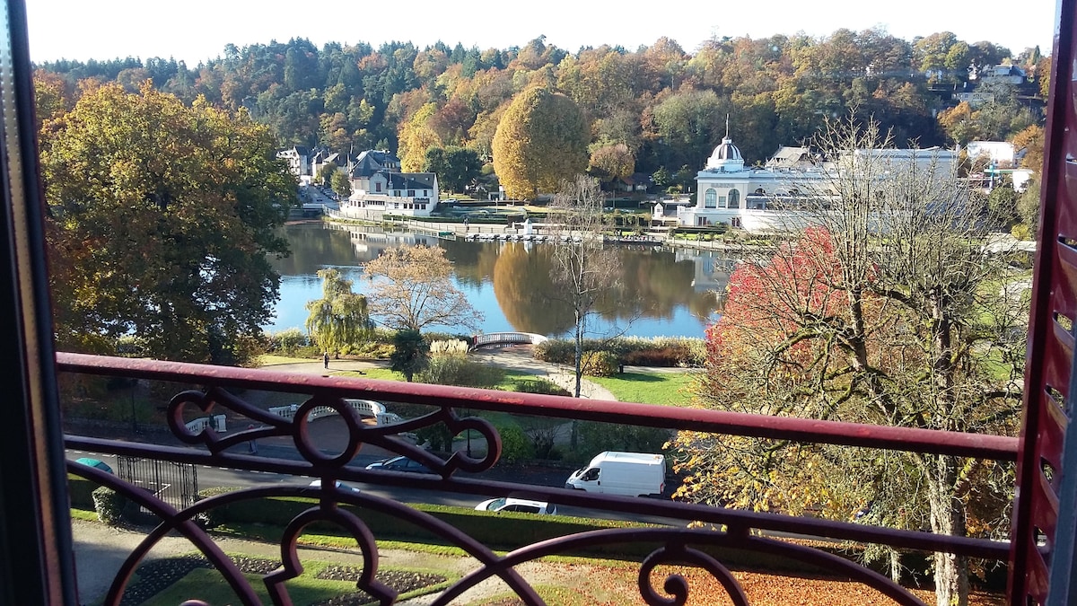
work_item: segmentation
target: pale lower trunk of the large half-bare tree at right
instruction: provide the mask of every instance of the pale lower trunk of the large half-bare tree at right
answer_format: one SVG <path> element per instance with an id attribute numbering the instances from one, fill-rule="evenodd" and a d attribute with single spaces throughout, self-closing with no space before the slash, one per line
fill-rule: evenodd
<path id="1" fill-rule="evenodd" d="M 965 536 L 965 508 L 954 494 L 957 462 L 950 456 L 935 457 L 928 470 L 928 499 L 932 532 L 937 535 Z M 968 606 L 968 562 L 952 553 L 935 554 L 935 603 L 938 606 Z"/>

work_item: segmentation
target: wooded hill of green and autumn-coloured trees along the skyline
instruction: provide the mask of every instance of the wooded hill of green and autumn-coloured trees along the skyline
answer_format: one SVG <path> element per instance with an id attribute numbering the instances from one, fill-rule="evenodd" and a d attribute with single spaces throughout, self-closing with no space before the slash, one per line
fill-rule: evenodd
<path id="1" fill-rule="evenodd" d="M 702 165 L 726 134 L 727 115 L 729 134 L 750 165 L 781 144 L 802 142 L 826 116 L 851 108 L 893 128 L 901 146 L 1011 139 L 1041 121 L 1037 101 L 1049 60 L 1038 49 L 1015 56 L 951 32 L 910 42 L 880 29 L 839 29 L 821 39 L 714 39 L 695 53 L 668 38 L 635 51 L 603 45 L 576 53 L 543 38 L 485 51 L 410 42 L 318 49 L 293 39 L 229 44 L 195 68 L 162 58 L 59 60 L 39 65 L 38 78 L 62 84 L 68 99 L 87 89 L 86 80 L 136 91 L 150 79 L 187 104 L 201 95 L 228 110 L 246 108 L 282 147 L 464 147 L 486 161 L 509 101 L 538 84 L 579 106 L 590 124 L 592 153 L 624 144 L 637 171 L 672 174 Z M 953 92 L 968 89 L 970 65 L 1007 61 L 1031 82 L 992 85 L 981 107 L 952 100 Z"/>

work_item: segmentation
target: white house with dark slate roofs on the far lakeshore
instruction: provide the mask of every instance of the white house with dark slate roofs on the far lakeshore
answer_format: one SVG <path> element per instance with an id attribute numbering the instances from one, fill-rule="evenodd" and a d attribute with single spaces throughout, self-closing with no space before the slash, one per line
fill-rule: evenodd
<path id="1" fill-rule="evenodd" d="M 387 151 L 368 150 L 349 166 L 351 196 L 340 203 L 345 217 L 379 220 L 382 215 L 428 217 L 437 205 L 437 176 L 401 173 L 400 159 Z"/>

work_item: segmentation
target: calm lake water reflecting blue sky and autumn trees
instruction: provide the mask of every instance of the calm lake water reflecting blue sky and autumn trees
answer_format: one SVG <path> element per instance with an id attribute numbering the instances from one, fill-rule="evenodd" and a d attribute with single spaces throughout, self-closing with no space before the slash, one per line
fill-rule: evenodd
<path id="1" fill-rule="evenodd" d="M 362 264 L 391 247 L 440 246 L 454 266 L 453 280 L 484 316 L 484 332 L 568 334 L 572 309 L 557 300 L 550 280 L 551 246 L 531 243 L 439 240 L 374 228 L 305 222 L 285 225 L 292 256 L 275 260 L 281 274 L 277 317 L 269 331 L 303 329 L 305 305 L 321 298 L 318 270 L 336 267 L 366 292 Z M 717 316 L 716 293 L 725 289 L 733 261 L 722 253 L 621 247 L 620 287 L 602 301 L 589 321 L 589 338 L 703 336 Z M 432 330 L 459 332 L 452 327 Z"/>

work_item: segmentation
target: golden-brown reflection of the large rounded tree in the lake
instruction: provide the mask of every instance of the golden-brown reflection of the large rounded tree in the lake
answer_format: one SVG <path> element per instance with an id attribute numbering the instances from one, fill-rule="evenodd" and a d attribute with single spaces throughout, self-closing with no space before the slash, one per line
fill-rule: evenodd
<path id="1" fill-rule="evenodd" d="M 516 330 L 562 334 L 575 323 L 569 304 L 555 299 L 551 252 L 548 246 L 536 246 L 530 252 L 522 244 L 501 248 L 493 267 L 493 293 Z"/>

